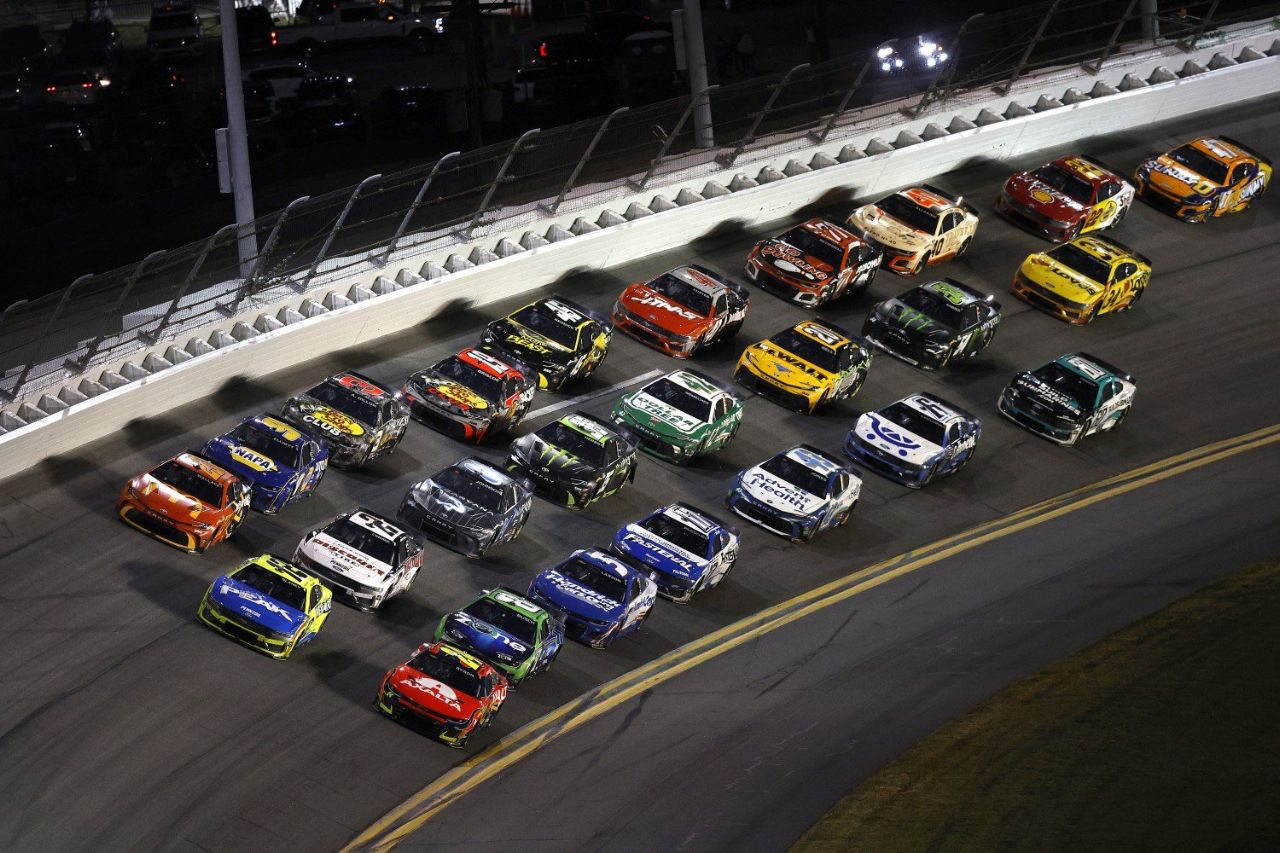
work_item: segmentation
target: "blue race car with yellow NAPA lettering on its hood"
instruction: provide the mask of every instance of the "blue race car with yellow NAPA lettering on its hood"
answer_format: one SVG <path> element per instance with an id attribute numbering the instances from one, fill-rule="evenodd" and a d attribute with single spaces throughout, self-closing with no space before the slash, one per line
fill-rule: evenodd
<path id="1" fill-rule="evenodd" d="M 270 415 L 246 418 L 200 455 L 248 483 L 250 507 L 265 515 L 312 494 L 329 465 L 328 447 Z"/>

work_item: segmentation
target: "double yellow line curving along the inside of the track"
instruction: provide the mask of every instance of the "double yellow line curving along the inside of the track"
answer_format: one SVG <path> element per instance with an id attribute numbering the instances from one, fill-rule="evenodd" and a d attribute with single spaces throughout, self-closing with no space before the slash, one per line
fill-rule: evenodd
<path id="1" fill-rule="evenodd" d="M 534 720 L 453 767 L 353 839 L 344 850 L 389 850 L 424 824 L 543 744 L 608 713 L 663 681 L 686 672 L 763 634 L 838 605 L 868 589 L 931 566 L 941 560 L 1044 524 L 1070 512 L 1133 492 L 1144 485 L 1280 442 L 1280 424 L 1197 447 L 1098 483 L 1032 505 L 964 533 L 891 557 L 788 598 L 732 625 L 663 654 L 626 675 L 600 684 L 556 711 Z"/>

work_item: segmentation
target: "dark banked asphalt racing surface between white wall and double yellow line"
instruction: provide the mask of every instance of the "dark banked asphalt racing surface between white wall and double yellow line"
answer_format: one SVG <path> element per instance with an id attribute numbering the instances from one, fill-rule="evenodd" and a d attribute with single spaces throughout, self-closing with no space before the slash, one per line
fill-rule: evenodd
<path id="1" fill-rule="evenodd" d="M 1203 132 L 1224 132 L 1265 147 L 1280 137 L 1277 108 L 1280 97 L 1263 99 L 1080 147 L 1125 169 L 1151 151 Z M 860 411 L 913 391 L 940 393 L 983 418 L 974 465 L 922 492 L 868 475 L 850 525 L 808 547 L 744 524 L 744 556 L 721 589 L 684 607 L 659 602 L 640 634 L 608 651 L 571 646 L 547 675 L 512 697 L 495 725 L 467 752 L 477 752 L 602 681 L 855 569 L 1119 471 L 1280 423 L 1275 392 L 1280 378 L 1275 332 L 1280 321 L 1275 287 L 1280 195 L 1272 192 L 1254 210 L 1207 225 L 1185 225 L 1137 204 L 1116 236 L 1153 259 L 1147 296 L 1133 311 L 1071 328 L 1024 306 L 1007 291 L 1016 265 L 1044 243 L 1000 222 L 989 206 L 1011 168 L 1028 165 L 1033 160 L 974 163 L 937 181 L 988 211 L 969 254 L 938 268 L 940 274 L 989 289 L 1004 304 L 1000 333 L 977 362 L 933 375 L 878 356 L 854 401 L 814 418 L 749 400 L 741 433 L 717 457 L 687 470 L 646 459 L 634 485 L 580 515 L 539 501 L 521 538 L 485 561 L 467 561 L 431 546 L 407 598 L 376 615 L 335 608 L 319 639 L 288 662 L 257 656 L 195 622 L 196 603 L 210 580 L 244 556 L 292 552 L 305 530 L 353 503 L 393 510 L 412 482 L 470 448 L 415 424 L 394 456 L 362 473 L 330 473 L 314 498 L 280 516 L 251 517 L 234 542 L 202 557 L 186 557 L 124 528 L 114 516 L 118 489 L 136 471 L 198 446 L 244 415 L 274 410 L 289 393 L 334 370 L 362 369 L 399 382 L 412 369 L 474 342 L 498 309 L 479 313 L 461 306 L 447 319 L 376 347 L 334 353 L 264 382 L 229 383 L 201 403 L 140 420 L 79 453 L 6 482 L 0 508 L 0 789 L 5 792 L 0 848 L 340 847 L 465 758 L 371 711 L 381 672 L 426 638 L 443 612 L 466 603 L 481 588 L 526 584 L 572 548 L 605 542 L 617 526 L 672 497 L 718 507 L 735 470 L 799 441 L 837 451 Z M 858 197 L 856 188 L 850 188 L 824 200 L 814 213 L 844 214 Z M 677 263 L 698 260 L 736 272 L 759 233 L 785 224 L 748 233 L 737 223 L 708 223 L 708 233 L 690 234 L 687 246 L 623 269 L 566 277 L 556 289 L 607 310 L 628 280 Z M 874 300 L 909 284 L 882 273 L 872 296 L 823 315 L 856 329 Z M 742 346 L 803 316 L 774 297 L 754 295 L 739 339 L 707 353 L 699 365 L 727 378 Z M 1133 415 L 1119 432 L 1068 450 L 1005 421 L 995 411 L 995 400 L 1016 370 L 1073 350 L 1123 365 L 1137 375 L 1139 389 Z M 620 336 L 599 375 L 575 393 L 600 392 L 649 370 L 675 366 Z M 584 407 L 607 412 L 617 394 L 603 393 Z M 535 406 L 556 402 L 543 397 Z M 541 423 L 526 421 L 522 432 Z M 492 459 L 503 452 L 504 443 L 481 448 Z M 1188 488 L 1181 500 L 1194 505 L 1202 498 Z M 1124 516 L 1107 517 L 1112 525 L 1128 526 Z M 1207 514 L 1203 524 L 1215 519 Z M 1076 526 L 1071 540 L 1084 543 L 1096 533 Z M 899 594 L 911 583 L 895 581 Z M 1073 597 L 1073 590 L 1070 585 L 1042 588 L 1043 594 L 1059 598 L 1055 603 L 1062 612 L 1087 613 L 1100 599 L 1092 592 Z M 969 612 L 986 612 L 978 601 L 983 592 L 992 602 L 1010 594 L 1007 588 L 984 590 L 974 581 L 969 594 L 975 598 L 965 605 Z M 1103 610 L 1098 630 L 1155 610 L 1167 598 L 1161 587 L 1138 587 L 1123 597 L 1124 607 Z M 946 606 L 943 598 L 940 607 Z M 919 633 L 905 626 L 887 624 L 881 634 L 881 646 L 901 653 L 914 649 L 924 667 L 955 665 L 942 648 L 933 649 L 929 663 L 931 649 L 920 647 Z M 1032 648 L 1037 646 L 1039 652 Z M 1028 628 L 1019 648 L 1030 661 L 1048 660 L 1065 646 L 1051 633 Z M 980 670 L 975 661 L 966 666 Z M 741 678 L 759 676 L 744 672 Z M 968 701 L 1004 680 L 977 684 Z M 883 708 L 895 698 L 886 694 Z M 877 713 L 881 710 L 868 708 L 872 717 Z M 946 716 L 941 708 L 936 719 L 922 712 L 914 720 L 924 726 Z M 909 734 L 904 730 L 897 745 L 908 743 Z M 654 749 L 663 743 L 655 738 Z M 891 752 L 886 748 L 884 757 Z M 649 799 L 646 792 L 639 794 L 637 815 Z M 833 797 L 832 790 L 827 800 Z M 745 798 L 732 809 L 726 807 L 735 826 L 750 822 L 753 803 L 759 804 Z M 489 806 L 499 811 L 506 804 Z M 730 843 L 737 829 L 707 831 L 719 831 Z M 472 838 L 488 834 L 476 826 Z"/>

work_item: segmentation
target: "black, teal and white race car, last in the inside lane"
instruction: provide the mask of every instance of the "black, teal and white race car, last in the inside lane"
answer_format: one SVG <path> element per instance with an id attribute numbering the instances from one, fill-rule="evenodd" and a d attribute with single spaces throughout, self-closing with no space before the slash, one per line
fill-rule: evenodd
<path id="1" fill-rule="evenodd" d="M 1075 444 L 1124 423 L 1137 391 L 1124 370 L 1088 352 L 1071 352 L 1014 377 L 996 407 L 1038 435 Z"/>

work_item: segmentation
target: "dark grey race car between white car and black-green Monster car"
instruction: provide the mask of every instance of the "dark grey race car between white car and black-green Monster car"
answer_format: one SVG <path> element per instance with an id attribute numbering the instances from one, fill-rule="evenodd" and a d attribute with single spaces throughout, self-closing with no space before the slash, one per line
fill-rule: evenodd
<path id="1" fill-rule="evenodd" d="M 410 487 L 401 521 L 468 557 L 483 557 L 525 528 L 532 506 L 527 483 L 470 456 Z"/>

